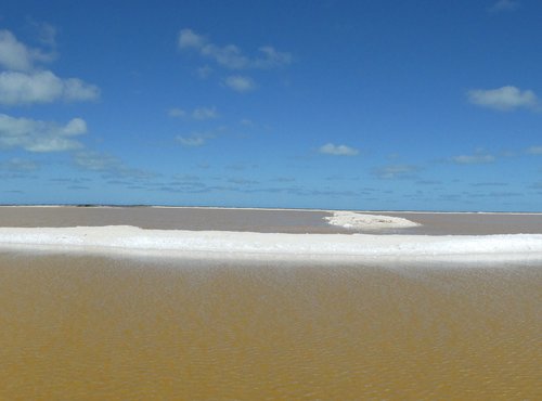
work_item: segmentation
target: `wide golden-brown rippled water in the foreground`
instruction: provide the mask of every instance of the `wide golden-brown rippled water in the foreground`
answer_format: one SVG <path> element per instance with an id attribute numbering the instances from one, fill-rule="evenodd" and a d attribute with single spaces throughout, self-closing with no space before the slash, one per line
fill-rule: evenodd
<path id="1" fill-rule="evenodd" d="M 0 253 L 1 400 L 540 400 L 542 269 Z"/>

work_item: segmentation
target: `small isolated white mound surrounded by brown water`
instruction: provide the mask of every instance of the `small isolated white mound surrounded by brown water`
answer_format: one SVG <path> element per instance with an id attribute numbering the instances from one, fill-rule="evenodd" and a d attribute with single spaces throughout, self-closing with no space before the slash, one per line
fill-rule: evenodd
<path id="1" fill-rule="evenodd" d="M 400 217 L 362 215 L 354 211 L 333 211 L 333 216 L 325 217 L 330 224 L 345 229 L 382 230 L 406 229 L 421 225 L 414 221 Z"/>

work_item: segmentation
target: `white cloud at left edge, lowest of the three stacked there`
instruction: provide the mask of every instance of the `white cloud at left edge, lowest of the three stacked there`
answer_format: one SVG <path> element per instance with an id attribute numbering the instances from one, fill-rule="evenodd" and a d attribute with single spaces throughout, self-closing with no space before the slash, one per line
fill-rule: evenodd
<path id="1" fill-rule="evenodd" d="M 75 137 L 87 132 L 87 124 L 74 118 L 65 126 L 51 121 L 15 118 L 0 114 L 0 148 L 22 147 L 28 152 L 65 152 L 81 148 Z"/>

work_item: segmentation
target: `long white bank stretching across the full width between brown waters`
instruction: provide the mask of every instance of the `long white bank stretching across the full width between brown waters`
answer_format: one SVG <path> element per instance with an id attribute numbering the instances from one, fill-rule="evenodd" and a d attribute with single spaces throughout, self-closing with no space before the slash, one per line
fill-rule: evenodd
<path id="1" fill-rule="evenodd" d="M 204 254 L 219 258 L 427 259 L 542 261 L 542 234 L 370 235 L 270 234 L 227 231 L 143 230 L 129 225 L 0 228 L 3 248 L 62 251 Z M 384 258 L 384 259 L 383 259 Z"/>

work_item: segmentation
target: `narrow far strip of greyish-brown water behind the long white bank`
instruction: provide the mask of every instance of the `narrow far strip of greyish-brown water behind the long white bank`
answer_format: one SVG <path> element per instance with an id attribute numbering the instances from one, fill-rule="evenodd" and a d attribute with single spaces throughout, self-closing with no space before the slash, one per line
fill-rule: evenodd
<path id="1" fill-rule="evenodd" d="M 366 212 L 402 217 L 422 225 L 379 230 L 404 234 L 542 234 L 542 214 Z M 136 225 L 160 230 L 219 230 L 268 233 L 352 233 L 327 224 L 320 210 L 152 207 L 2 207 L 0 227 Z M 362 232 L 362 230 L 358 230 Z M 366 231 L 375 233 L 375 231 Z"/>

